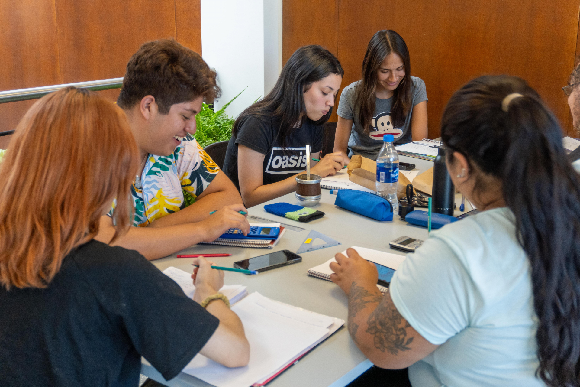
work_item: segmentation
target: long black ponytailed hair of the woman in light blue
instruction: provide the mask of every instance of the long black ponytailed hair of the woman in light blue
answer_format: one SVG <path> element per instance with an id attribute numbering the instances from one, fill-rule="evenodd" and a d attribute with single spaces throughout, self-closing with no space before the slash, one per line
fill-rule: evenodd
<path id="1" fill-rule="evenodd" d="M 511 93 L 523 97 L 505 111 L 502 102 Z M 580 178 L 564 153 L 556 118 L 523 79 L 480 77 L 449 100 L 441 136 L 446 147 L 502 182 L 531 264 L 539 319 L 536 375 L 548 386 L 578 386 Z"/>

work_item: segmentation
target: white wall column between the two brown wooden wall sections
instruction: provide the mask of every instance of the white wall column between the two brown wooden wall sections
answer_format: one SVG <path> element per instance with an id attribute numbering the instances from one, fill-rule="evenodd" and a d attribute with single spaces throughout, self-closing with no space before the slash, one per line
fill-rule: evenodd
<path id="1" fill-rule="evenodd" d="M 282 0 L 201 0 L 201 52 L 215 68 L 218 110 L 237 117 L 269 92 L 282 63 Z"/>

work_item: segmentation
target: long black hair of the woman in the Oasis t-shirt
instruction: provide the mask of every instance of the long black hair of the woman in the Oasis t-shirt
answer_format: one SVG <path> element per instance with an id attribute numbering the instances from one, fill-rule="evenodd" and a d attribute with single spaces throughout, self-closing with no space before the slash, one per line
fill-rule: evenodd
<path id="1" fill-rule="evenodd" d="M 285 148 L 292 129 L 299 128 L 308 119 L 303 93 L 308 91 L 314 82 L 320 81 L 330 74 L 342 77 L 345 71 L 342 70 L 340 62 L 329 50 L 318 45 L 300 47 L 282 68 L 280 77 L 278 77 L 272 91 L 262 100 L 242 111 L 235 120 L 231 132 L 234 136 L 237 135 L 240 123 L 248 115 L 256 118 L 271 118 L 275 125 L 280 127 L 278 139 L 280 146 Z M 314 124 L 324 124 L 328 121 L 331 113 L 332 108 Z"/>

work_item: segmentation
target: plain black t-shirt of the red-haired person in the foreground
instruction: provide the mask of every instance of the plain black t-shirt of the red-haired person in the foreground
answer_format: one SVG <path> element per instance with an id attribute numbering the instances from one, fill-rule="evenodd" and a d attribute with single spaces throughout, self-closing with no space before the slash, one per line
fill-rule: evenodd
<path id="1" fill-rule="evenodd" d="M 219 320 L 136 251 L 90 241 L 45 289 L 0 289 L 0 385 L 139 385 L 141 356 L 174 378 Z"/>

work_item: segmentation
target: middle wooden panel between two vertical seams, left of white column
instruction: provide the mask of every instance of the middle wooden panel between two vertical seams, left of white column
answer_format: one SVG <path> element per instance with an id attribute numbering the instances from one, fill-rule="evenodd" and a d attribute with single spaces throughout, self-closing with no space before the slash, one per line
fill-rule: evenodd
<path id="1" fill-rule="evenodd" d="M 175 1 L 56 0 L 63 81 L 122 77 L 143 42 L 175 37 Z"/>

